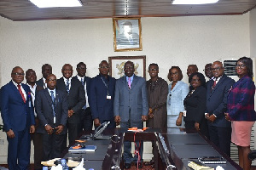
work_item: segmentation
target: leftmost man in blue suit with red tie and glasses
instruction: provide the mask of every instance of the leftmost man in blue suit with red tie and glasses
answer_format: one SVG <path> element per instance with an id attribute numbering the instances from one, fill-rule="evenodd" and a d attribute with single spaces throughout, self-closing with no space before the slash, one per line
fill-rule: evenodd
<path id="1" fill-rule="evenodd" d="M 9 169 L 28 169 L 30 164 L 30 133 L 35 131 L 31 92 L 24 80 L 24 71 L 13 68 L 12 81 L 1 88 L 1 116 L 8 140 Z"/>

